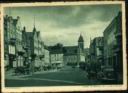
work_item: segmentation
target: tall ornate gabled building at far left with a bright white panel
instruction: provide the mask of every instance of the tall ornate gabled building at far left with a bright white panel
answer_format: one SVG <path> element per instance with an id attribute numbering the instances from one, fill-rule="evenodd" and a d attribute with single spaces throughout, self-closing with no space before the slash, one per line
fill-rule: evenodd
<path id="1" fill-rule="evenodd" d="M 20 17 L 4 17 L 4 59 L 9 67 L 23 66 L 22 32 Z"/>

